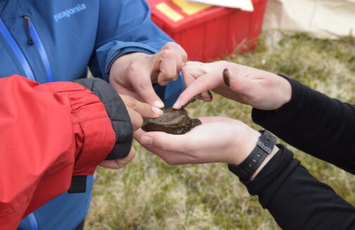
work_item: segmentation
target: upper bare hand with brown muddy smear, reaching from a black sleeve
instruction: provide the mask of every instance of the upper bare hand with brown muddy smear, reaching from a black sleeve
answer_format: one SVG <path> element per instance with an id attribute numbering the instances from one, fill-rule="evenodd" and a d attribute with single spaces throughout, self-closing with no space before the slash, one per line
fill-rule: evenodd
<path id="1" fill-rule="evenodd" d="M 174 109 L 180 109 L 191 97 L 207 90 L 263 110 L 282 107 L 290 101 L 292 93 L 290 83 L 276 74 L 226 61 L 187 62 L 183 77 L 188 88 L 176 100 Z"/>

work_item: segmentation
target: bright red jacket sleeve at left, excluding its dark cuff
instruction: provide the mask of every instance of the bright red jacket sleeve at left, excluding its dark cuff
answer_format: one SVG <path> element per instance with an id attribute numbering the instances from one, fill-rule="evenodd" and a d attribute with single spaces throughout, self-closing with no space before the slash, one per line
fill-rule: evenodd
<path id="1" fill-rule="evenodd" d="M 91 175 L 115 144 L 101 100 L 71 82 L 0 79 L 0 229 Z"/>

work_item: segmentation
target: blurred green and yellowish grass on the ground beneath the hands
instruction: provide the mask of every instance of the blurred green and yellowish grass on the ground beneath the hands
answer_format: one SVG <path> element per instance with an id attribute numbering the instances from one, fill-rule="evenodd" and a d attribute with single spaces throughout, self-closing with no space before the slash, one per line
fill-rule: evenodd
<path id="1" fill-rule="evenodd" d="M 286 74 L 331 97 L 355 103 L 355 39 L 311 39 L 304 34 L 270 42 L 227 60 Z M 252 124 L 250 107 L 214 95 L 189 107 L 192 116 L 230 116 Z M 121 170 L 98 168 L 86 229 L 278 229 L 257 197 L 225 164 L 167 165 L 137 143 L 136 158 Z M 355 205 L 352 175 L 290 147 L 318 180 Z"/>

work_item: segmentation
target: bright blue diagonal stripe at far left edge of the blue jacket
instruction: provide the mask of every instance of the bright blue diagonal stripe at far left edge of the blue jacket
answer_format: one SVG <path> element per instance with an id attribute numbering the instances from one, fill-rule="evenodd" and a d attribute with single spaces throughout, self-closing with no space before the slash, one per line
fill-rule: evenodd
<path id="1" fill-rule="evenodd" d="M 13 36 L 8 31 L 8 28 L 6 27 L 4 21 L 2 20 L 1 17 L 0 17 L 0 32 L 4 36 L 4 38 L 7 41 L 8 45 L 13 50 L 13 53 L 15 53 L 16 57 L 20 61 L 22 69 L 25 71 L 25 74 L 26 74 L 27 78 L 31 79 L 33 81 L 36 81 L 36 78 L 34 77 L 34 74 L 32 72 L 30 64 L 28 63 L 25 55 L 22 53 L 22 50 L 20 49 L 20 46 L 18 46 L 18 43 L 16 43 L 15 39 L 13 39 Z"/>

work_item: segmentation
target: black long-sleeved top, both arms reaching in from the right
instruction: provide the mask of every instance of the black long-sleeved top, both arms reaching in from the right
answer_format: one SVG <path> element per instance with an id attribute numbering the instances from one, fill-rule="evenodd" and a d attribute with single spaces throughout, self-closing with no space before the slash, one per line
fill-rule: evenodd
<path id="1" fill-rule="evenodd" d="M 255 123 L 312 156 L 355 174 L 355 106 L 288 79 L 292 97 L 278 111 L 253 109 Z M 280 150 L 252 181 L 242 181 L 283 229 L 355 229 L 355 208 Z M 355 179 L 355 178 L 354 178 Z"/>

